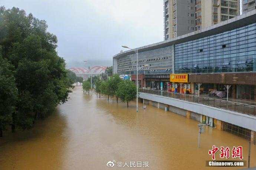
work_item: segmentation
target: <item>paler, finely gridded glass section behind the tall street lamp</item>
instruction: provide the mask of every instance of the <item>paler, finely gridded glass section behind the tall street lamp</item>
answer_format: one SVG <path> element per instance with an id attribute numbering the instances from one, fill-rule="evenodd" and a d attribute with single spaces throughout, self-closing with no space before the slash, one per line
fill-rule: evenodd
<path id="1" fill-rule="evenodd" d="M 173 46 L 138 52 L 138 74 L 170 74 L 173 71 Z M 137 55 L 126 55 L 117 60 L 118 74 L 136 74 Z"/>

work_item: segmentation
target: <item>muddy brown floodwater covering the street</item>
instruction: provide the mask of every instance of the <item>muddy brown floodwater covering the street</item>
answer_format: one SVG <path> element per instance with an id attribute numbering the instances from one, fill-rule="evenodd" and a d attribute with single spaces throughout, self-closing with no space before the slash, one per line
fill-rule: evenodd
<path id="1" fill-rule="evenodd" d="M 243 146 L 247 161 L 248 142 L 230 133 L 206 127 L 197 148 L 198 122 L 152 106 L 136 112 L 115 98 L 107 101 L 94 93 L 83 94 L 76 86 L 70 100 L 56 113 L 36 123 L 35 128 L 0 139 L 0 169 L 21 170 L 102 170 L 110 160 L 147 161 L 139 169 L 237 169 L 206 167 L 208 150 Z M 251 167 L 256 166 L 256 147 L 251 149 Z M 217 152 L 216 158 L 219 158 Z M 232 153 L 230 153 L 231 156 Z M 234 160 L 230 158 L 229 160 Z M 116 165 L 112 169 L 124 169 Z M 126 168 L 135 169 L 135 168 Z"/>

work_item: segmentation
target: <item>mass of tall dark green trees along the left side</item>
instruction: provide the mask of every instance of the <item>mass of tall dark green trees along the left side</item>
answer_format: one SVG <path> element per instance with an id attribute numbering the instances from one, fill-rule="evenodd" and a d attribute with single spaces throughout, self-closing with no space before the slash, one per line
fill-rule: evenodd
<path id="1" fill-rule="evenodd" d="M 9 125 L 29 129 L 64 103 L 73 80 L 44 20 L 0 7 L 0 136 Z"/>

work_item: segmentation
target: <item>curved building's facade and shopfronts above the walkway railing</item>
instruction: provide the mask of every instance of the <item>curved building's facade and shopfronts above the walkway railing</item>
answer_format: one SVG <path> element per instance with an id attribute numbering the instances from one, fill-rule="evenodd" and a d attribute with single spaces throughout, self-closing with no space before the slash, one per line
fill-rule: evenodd
<path id="1" fill-rule="evenodd" d="M 256 101 L 256 10 L 177 38 L 137 48 L 144 87 Z M 113 71 L 136 74 L 136 54 L 116 54 Z M 170 75 L 187 81 L 171 81 Z M 198 83 L 201 84 L 198 88 Z M 231 85 L 229 93 L 225 85 Z M 143 86 L 142 86 L 143 87 Z"/>

